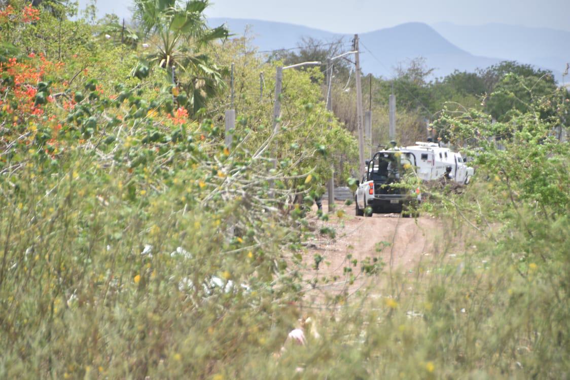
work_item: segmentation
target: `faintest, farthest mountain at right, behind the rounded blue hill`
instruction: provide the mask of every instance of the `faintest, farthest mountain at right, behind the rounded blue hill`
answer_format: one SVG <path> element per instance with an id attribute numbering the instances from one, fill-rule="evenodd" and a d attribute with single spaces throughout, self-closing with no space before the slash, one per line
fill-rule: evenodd
<path id="1" fill-rule="evenodd" d="M 548 68 L 558 79 L 570 62 L 568 31 L 496 23 L 465 26 L 442 22 L 433 27 L 451 43 L 475 55 L 499 56 Z"/>

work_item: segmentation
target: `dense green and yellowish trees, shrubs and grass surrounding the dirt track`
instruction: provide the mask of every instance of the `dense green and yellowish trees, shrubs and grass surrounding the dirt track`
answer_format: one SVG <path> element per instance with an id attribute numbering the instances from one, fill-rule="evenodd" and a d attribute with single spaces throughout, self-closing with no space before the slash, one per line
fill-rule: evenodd
<path id="1" fill-rule="evenodd" d="M 304 273 L 326 263 L 305 247 L 335 231 L 307 210 L 331 165 L 339 182 L 355 171 L 351 92 L 335 84 L 330 113 L 321 68 L 287 70 L 273 130 L 273 73 L 294 56 L 207 27 L 207 2 L 135 3 L 123 28 L 0 2 L 0 378 L 570 375 L 570 106 L 548 73 L 398 74 L 417 90 L 398 96 L 402 136 L 423 140 L 429 112 L 477 178 L 424 206 L 447 227 L 413 279 L 349 260 L 318 281 L 361 272 L 382 297 L 316 308 Z M 392 86 L 374 84 L 385 115 Z M 282 349 L 299 319 L 307 344 Z"/>

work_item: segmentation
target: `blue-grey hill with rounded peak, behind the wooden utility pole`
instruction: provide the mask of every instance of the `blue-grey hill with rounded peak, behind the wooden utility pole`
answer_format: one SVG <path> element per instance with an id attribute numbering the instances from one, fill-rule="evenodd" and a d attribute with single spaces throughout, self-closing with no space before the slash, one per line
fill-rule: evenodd
<path id="1" fill-rule="evenodd" d="M 211 26 L 227 23 L 237 35 L 253 37 L 259 51 L 296 47 L 303 36 L 330 42 L 343 38 L 346 50 L 351 48 L 353 35 L 337 34 L 288 23 L 252 19 L 210 18 Z M 392 28 L 360 34 L 361 62 L 365 73 L 392 77 L 398 63 L 422 56 L 427 66 L 435 68 L 434 76 L 445 76 L 455 69 L 473 71 L 500 62 L 499 58 L 474 56 L 450 43 L 432 27 L 423 23 L 406 23 Z"/>

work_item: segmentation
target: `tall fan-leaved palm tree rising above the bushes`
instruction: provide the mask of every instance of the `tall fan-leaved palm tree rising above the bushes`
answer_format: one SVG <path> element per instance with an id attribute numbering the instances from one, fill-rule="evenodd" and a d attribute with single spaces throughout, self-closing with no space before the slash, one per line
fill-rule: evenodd
<path id="1" fill-rule="evenodd" d="M 172 75 L 188 95 L 191 113 L 204 107 L 206 99 L 225 86 L 218 67 L 198 52 L 228 36 L 225 26 L 207 26 L 203 15 L 207 6 L 207 0 L 135 0 L 135 19 L 143 36 L 155 47 L 146 60 Z M 178 76 L 174 76 L 174 68 Z"/>

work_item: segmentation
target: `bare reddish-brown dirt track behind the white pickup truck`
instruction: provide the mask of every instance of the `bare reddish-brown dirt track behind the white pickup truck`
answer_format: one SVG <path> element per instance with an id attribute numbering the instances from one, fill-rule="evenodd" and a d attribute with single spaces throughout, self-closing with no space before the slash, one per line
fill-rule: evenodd
<path id="1" fill-rule="evenodd" d="M 328 205 L 323 202 L 323 209 Z M 331 226 L 336 230 L 336 238 L 328 236 L 316 238 L 308 252 L 307 263 L 314 264 L 314 256 L 320 255 L 324 261 L 319 270 L 307 273 L 309 278 L 324 276 L 335 278 L 319 290 L 328 294 L 347 291 L 352 294 L 367 283 L 365 276 L 357 276 L 353 284 L 345 281 L 345 267 L 351 267 L 353 275 L 360 273 L 362 260 L 378 258 L 385 264 L 384 271 L 400 272 L 412 275 L 413 269 L 420 259 L 429 259 L 433 252 L 433 244 L 442 236 L 442 223 L 431 216 L 402 218 L 400 214 L 374 214 L 371 217 L 355 216 L 354 205 L 345 206 L 337 202 L 336 210 L 344 211 L 340 218 L 336 212 L 327 223 L 317 222 L 323 226 Z M 314 207 L 316 211 L 316 207 Z M 358 260 L 356 267 L 347 259 Z"/>

